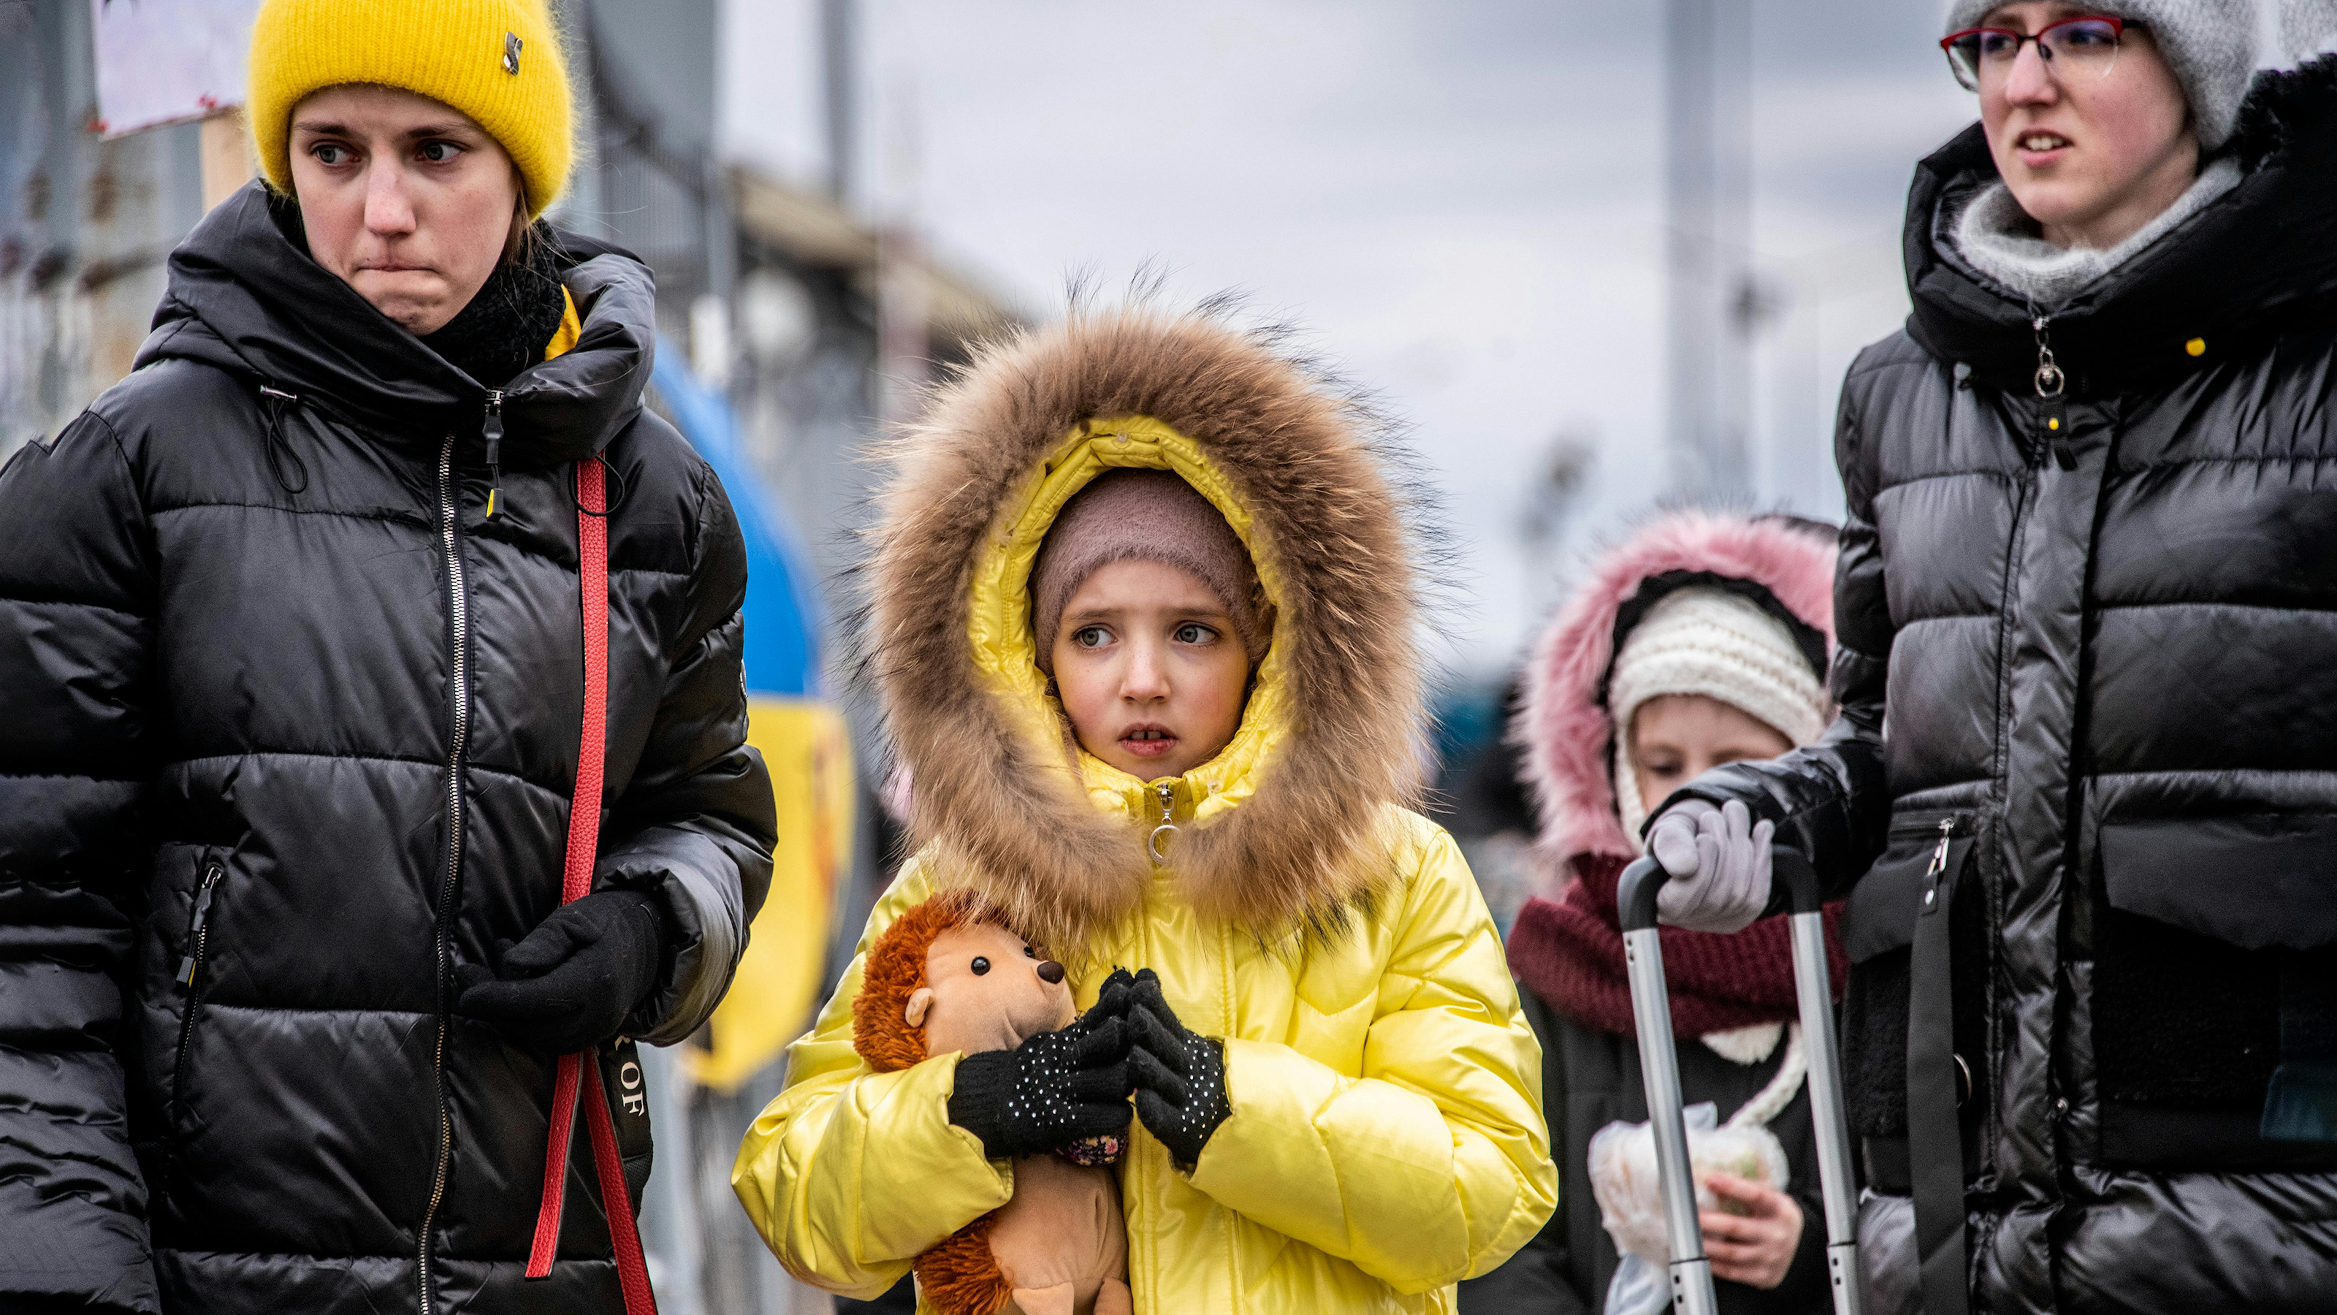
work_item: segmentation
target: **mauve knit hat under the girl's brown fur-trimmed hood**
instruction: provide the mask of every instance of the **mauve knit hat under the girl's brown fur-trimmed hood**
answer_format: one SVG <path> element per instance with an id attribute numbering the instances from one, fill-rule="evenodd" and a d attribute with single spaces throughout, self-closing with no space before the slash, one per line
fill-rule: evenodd
<path id="1" fill-rule="evenodd" d="M 1054 675 L 1063 603 L 1080 582 L 1115 561 L 1159 561 L 1192 575 L 1225 603 L 1250 666 L 1264 656 L 1267 635 L 1250 603 L 1255 570 L 1225 516 L 1173 472 L 1110 469 L 1063 502 L 1031 563 L 1031 638 L 1047 675 Z"/>

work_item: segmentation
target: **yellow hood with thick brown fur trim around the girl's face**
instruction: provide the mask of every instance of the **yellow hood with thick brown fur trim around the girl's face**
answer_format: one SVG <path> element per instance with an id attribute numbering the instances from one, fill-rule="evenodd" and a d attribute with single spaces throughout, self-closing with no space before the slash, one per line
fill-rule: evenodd
<path id="1" fill-rule="evenodd" d="M 883 453 L 869 670 L 935 871 L 1056 958 L 1152 881 L 1260 937 L 1337 925 L 1386 881 L 1416 789 L 1416 575 L 1372 411 L 1271 334 L 1152 308 L 982 348 Z M 1084 752 L 1038 670 L 1028 575 L 1063 502 L 1171 469 L 1241 535 L 1274 607 L 1241 729 L 1183 778 Z M 1168 787 L 1180 834 L 1154 867 Z"/>

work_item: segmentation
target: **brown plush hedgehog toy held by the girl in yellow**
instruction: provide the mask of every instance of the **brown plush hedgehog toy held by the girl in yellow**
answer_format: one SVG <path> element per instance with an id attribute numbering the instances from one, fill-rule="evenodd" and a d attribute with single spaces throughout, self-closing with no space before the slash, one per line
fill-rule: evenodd
<path id="1" fill-rule="evenodd" d="M 876 1072 L 928 1056 L 1005 1051 L 1077 1016 L 1063 965 L 998 913 L 937 895 L 867 955 L 853 1049 Z M 1133 1315 L 1119 1180 L 1122 1137 L 1014 1161 L 1014 1198 L 916 1257 L 918 1294 L 944 1315 Z"/>

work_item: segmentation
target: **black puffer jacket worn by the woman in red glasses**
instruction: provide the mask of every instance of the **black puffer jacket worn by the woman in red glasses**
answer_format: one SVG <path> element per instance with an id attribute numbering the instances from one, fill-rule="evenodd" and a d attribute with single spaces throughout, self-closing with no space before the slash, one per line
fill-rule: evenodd
<path id="1" fill-rule="evenodd" d="M 2066 406 L 2031 308 L 1937 238 L 1993 180 L 1979 131 L 1923 161 L 1914 315 L 1842 395 L 1842 722 L 1687 789 L 1858 883 L 1870 1310 L 1914 1299 L 1891 1194 L 1942 825 L 1972 841 L 1949 944 L 1975 1310 L 2337 1303 L 2337 1147 L 2258 1137 L 2283 1044 L 2337 1042 L 2330 70 L 2260 84 L 2234 149 L 2234 192 L 2052 308 Z"/>

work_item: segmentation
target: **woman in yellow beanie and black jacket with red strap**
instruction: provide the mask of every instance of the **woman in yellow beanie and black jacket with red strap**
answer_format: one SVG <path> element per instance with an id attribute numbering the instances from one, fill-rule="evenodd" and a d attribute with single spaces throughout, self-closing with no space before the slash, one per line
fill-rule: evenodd
<path id="1" fill-rule="evenodd" d="M 647 266 L 538 217 L 540 0 L 269 0 L 250 68 L 269 182 L 0 469 L 0 1310 L 647 1315 L 633 1039 L 771 874 L 738 521 Z"/>

